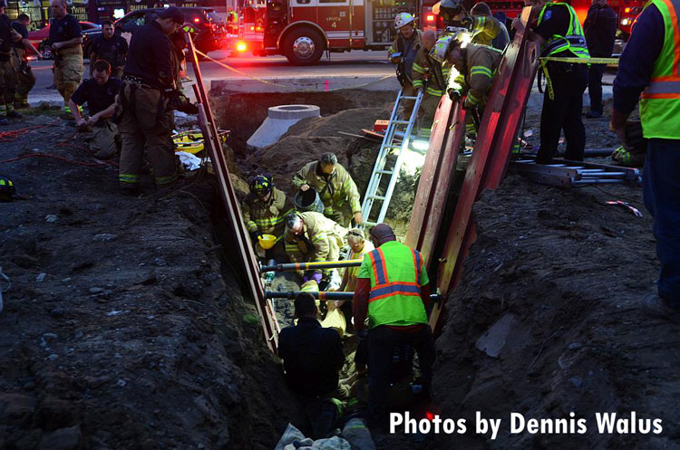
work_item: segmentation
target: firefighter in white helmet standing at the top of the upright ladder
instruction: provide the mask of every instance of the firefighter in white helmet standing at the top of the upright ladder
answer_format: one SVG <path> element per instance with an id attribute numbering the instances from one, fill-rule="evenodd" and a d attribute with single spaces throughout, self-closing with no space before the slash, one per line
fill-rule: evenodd
<path id="1" fill-rule="evenodd" d="M 413 62 L 421 43 L 421 31 L 415 28 L 415 17 L 408 13 L 399 13 L 394 17 L 394 28 L 397 37 L 387 51 L 388 59 L 396 64 L 397 80 L 402 85 L 403 95 L 414 96 Z M 409 120 L 413 111 L 413 100 L 403 101 L 402 118 Z"/>

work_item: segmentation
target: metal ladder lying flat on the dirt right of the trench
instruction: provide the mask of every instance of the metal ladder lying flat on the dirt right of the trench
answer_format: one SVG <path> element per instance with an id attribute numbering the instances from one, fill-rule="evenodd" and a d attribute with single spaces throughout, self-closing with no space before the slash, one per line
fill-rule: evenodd
<path id="1" fill-rule="evenodd" d="M 520 159 L 511 163 L 521 175 L 531 181 L 550 186 L 583 187 L 589 185 L 627 184 L 638 186 L 640 171 L 636 168 L 619 168 L 606 164 L 554 159 L 554 164 L 536 164 L 533 159 Z"/>

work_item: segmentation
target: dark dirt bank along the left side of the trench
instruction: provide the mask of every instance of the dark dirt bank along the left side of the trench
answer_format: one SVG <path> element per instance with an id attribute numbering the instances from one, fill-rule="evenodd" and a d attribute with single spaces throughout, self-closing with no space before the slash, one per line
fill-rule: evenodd
<path id="1" fill-rule="evenodd" d="M 9 129 L 31 120 L 53 122 Z M 0 448 L 273 448 L 304 422 L 213 178 L 121 196 L 73 133 L 62 120 L 0 146 L 24 196 L 0 206 Z"/>

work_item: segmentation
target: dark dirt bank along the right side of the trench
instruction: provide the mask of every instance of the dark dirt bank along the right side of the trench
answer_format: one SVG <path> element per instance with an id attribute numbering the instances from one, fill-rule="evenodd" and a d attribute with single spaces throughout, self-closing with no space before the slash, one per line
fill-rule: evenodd
<path id="1" fill-rule="evenodd" d="M 444 416 L 474 424 L 481 411 L 502 425 L 494 441 L 470 425 L 466 435 L 441 436 L 436 448 L 680 448 L 678 326 L 640 309 L 658 273 L 641 197 L 630 187 L 562 190 L 518 176 L 481 197 L 477 242 L 437 340 L 434 391 Z M 644 217 L 606 204 L 615 199 Z M 661 418 L 663 433 L 598 433 L 596 413 L 632 411 Z M 527 419 L 573 412 L 588 432 L 510 434 L 511 412 Z"/>

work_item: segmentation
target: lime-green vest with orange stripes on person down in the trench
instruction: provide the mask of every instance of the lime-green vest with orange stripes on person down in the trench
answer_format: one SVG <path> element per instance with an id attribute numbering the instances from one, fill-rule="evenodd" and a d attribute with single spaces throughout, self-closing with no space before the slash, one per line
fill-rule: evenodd
<path id="1" fill-rule="evenodd" d="M 369 277 L 369 328 L 427 323 L 421 286 L 430 281 L 420 252 L 396 241 L 384 243 L 364 256 L 359 278 Z"/>

